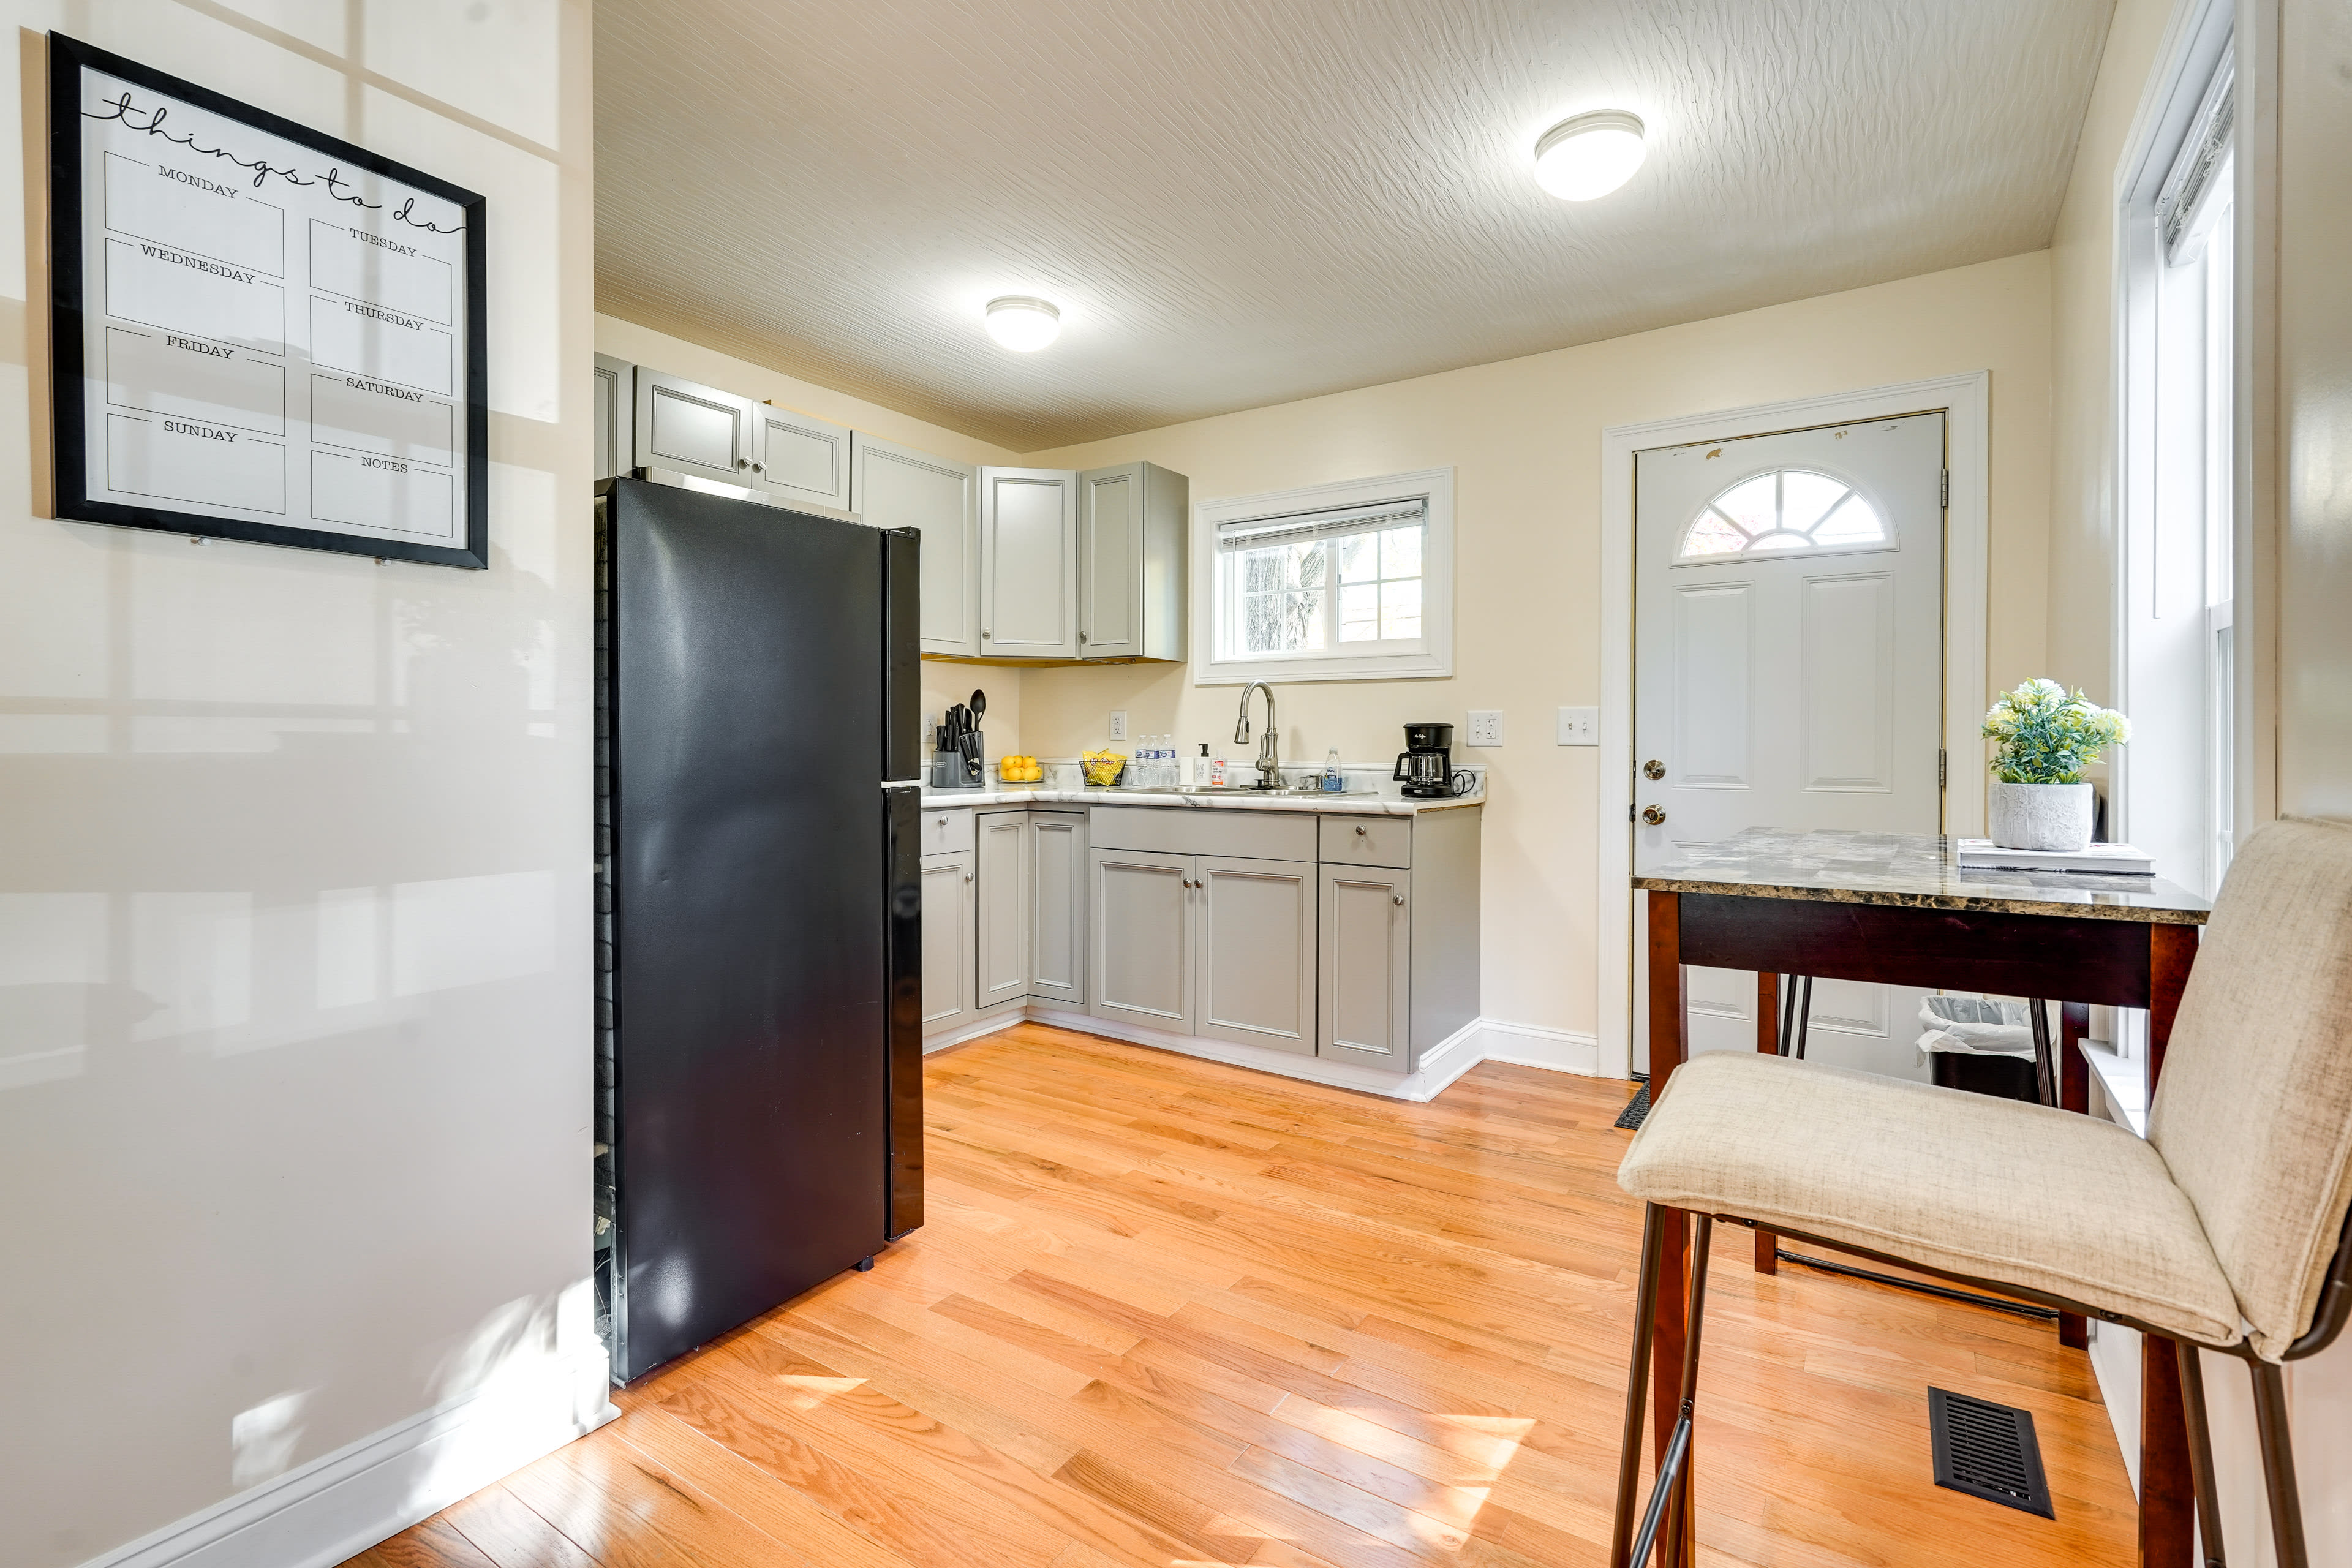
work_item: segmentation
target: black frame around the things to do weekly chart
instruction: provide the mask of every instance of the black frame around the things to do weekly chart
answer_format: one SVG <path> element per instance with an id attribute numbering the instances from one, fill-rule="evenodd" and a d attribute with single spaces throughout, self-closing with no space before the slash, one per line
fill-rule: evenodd
<path id="1" fill-rule="evenodd" d="M 336 167 L 353 167 L 397 181 L 466 214 L 463 289 L 466 289 L 466 383 L 461 390 L 466 418 L 463 456 L 463 538 L 466 545 L 433 545 L 405 538 L 334 534 L 294 524 L 214 517 L 162 505 L 122 505 L 89 496 L 89 430 L 85 407 L 87 336 L 85 336 L 85 247 L 82 247 L 82 73 L 101 71 L 148 92 L 167 94 L 223 120 L 238 120 L 268 136 L 310 148 Z M 64 33 L 49 33 L 49 404 L 54 430 L 56 517 L 103 522 L 125 529 L 155 529 L 191 538 L 238 538 L 294 550 L 334 550 L 376 559 L 426 562 L 435 567 L 489 567 L 489 327 L 487 327 L 487 202 L 480 193 L 452 186 L 423 169 L 395 162 L 339 136 L 296 125 L 252 103 L 198 87 L 165 71 L 141 66 L 96 45 Z"/>

